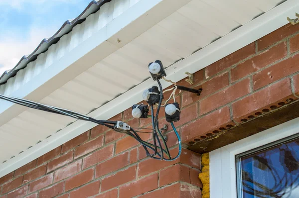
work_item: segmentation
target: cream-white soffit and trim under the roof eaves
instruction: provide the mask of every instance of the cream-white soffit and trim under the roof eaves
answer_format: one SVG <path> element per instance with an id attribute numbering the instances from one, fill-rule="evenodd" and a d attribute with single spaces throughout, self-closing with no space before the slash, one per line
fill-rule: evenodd
<path id="1" fill-rule="evenodd" d="M 90 27 L 88 21 L 100 21 L 87 17 L 28 65 L 19 81 L 17 74 L 0 86 L 0 93 L 85 114 L 96 109 L 89 115 L 109 119 L 141 101 L 143 90 L 154 85 L 149 62 L 161 60 L 167 77 L 179 81 L 186 71 L 194 73 L 287 24 L 287 16 L 299 9 L 298 0 L 277 7 L 280 0 L 230 1 L 234 9 L 221 0 L 140 0 L 101 29 Z M 60 47 L 65 45 L 72 49 Z M 0 125 L 1 149 L 7 151 L 0 160 L 15 155 L 0 165 L 1 177 L 96 124 L 0 101 Z"/>

